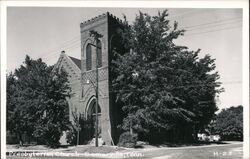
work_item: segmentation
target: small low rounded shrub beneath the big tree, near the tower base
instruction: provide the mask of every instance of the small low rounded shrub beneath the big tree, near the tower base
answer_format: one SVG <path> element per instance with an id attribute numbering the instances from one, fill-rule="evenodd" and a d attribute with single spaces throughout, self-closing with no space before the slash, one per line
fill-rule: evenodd
<path id="1" fill-rule="evenodd" d="M 120 135 L 118 146 L 133 148 L 137 142 L 137 134 L 131 134 L 130 132 L 124 132 Z"/>

